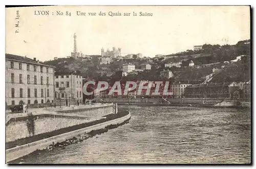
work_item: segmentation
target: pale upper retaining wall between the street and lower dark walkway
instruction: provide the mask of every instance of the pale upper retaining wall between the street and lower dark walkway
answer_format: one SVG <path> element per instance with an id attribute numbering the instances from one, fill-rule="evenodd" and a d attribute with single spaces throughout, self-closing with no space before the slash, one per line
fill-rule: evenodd
<path id="1" fill-rule="evenodd" d="M 41 113 L 41 115 L 35 115 L 35 133 L 34 135 L 40 133 L 46 133 L 61 128 L 66 128 L 69 126 L 78 125 L 81 123 L 86 123 L 95 120 L 95 118 L 101 118 L 113 112 L 113 104 L 105 105 L 95 105 L 95 106 L 84 106 L 86 108 L 75 107 L 65 107 L 65 109 L 60 109 L 55 111 L 56 114 L 61 115 L 48 115 Z M 80 109 L 78 109 L 80 108 Z M 83 116 L 83 117 L 71 117 L 71 116 Z M 89 118 L 84 118 L 89 117 Z M 11 118 L 8 123 L 6 123 L 6 142 L 11 142 L 19 138 L 25 138 L 29 136 L 29 131 L 27 127 L 27 115 L 23 118 Z"/>

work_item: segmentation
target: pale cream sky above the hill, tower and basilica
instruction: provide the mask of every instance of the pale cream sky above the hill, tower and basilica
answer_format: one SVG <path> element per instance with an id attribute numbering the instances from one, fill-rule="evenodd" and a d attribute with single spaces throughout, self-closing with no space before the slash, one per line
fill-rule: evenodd
<path id="1" fill-rule="evenodd" d="M 18 11 L 18 14 L 17 14 Z M 36 12 L 35 12 L 36 11 Z M 35 15 L 49 11 L 49 15 Z M 63 15 L 56 15 L 57 11 Z M 71 16 L 66 15 L 71 13 Z M 77 15 L 77 12 L 86 15 Z M 89 12 L 96 16 L 89 16 Z M 99 12 L 105 16 L 99 16 Z M 109 16 L 109 12 L 122 16 Z M 137 16 L 133 16 L 133 12 Z M 153 16 L 139 16 L 139 13 Z M 131 13 L 131 16 L 123 16 Z M 18 19 L 15 19 L 19 16 Z M 19 21 L 18 27 L 15 24 Z M 18 33 L 15 33 L 17 31 Z M 54 6 L 6 9 L 6 53 L 53 60 L 78 51 L 100 54 L 121 48 L 122 55 L 172 54 L 194 45 L 236 44 L 250 39 L 249 6 Z"/>

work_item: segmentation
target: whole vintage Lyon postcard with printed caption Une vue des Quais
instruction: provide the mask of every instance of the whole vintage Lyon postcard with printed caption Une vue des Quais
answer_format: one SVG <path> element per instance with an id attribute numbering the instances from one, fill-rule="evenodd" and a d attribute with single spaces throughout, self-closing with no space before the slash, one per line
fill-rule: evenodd
<path id="1" fill-rule="evenodd" d="M 250 10 L 6 7 L 6 163 L 251 164 Z"/>

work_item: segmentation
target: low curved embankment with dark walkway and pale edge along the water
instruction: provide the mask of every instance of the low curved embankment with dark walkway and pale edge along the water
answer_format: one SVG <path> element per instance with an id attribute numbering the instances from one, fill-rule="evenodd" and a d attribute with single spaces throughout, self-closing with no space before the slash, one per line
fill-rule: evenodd
<path id="1" fill-rule="evenodd" d="M 36 150 L 50 150 L 56 146 L 61 147 L 78 143 L 81 140 L 88 139 L 92 135 L 100 134 L 110 128 L 125 124 L 130 118 L 130 112 L 119 110 L 117 114 L 109 114 L 100 120 L 14 140 L 14 142 L 6 144 L 6 161 L 10 162 Z"/>

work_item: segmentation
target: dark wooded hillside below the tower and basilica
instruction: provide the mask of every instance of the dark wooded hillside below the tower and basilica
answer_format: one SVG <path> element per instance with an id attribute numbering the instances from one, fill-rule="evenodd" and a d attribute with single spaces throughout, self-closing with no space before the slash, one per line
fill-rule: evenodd
<path id="1" fill-rule="evenodd" d="M 126 80 L 157 80 L 161 79 L 160 71 L 167 69 L 164 67 L 165 63 L 182 62 L 181 68 L 169 68 L 173 71 L 174 78 L 171 80 L 201 83 L 204 77 L 212 73 L 212 69 L 216 66 L 211 65 L 205 67 L 205 64 L 220 63 L 218 66 L 221 69 L 224 61 L 236 59 L 239 55 L 250 55 L 250 40 L 239 41 L 236 45 L 210 45 L 204 44 L 201 50 L 187 50 L 180 53 L 170 54 L 163 58 L 152 58 L 150 61 L 146 59 L 114 59 L 108 65 L 100 65 L 100 55 L 91 55 L 91 58 L 58 58 L 57 60 L 46 61 L 45 64 L 55 66 L 56 72 L 76 72 L 85 78 L 104 80 L 104 79 L 126 79 Z M 187 67 L 188 62 L 193 60 L 195 67 Z M 140 69 L 141 64 L 150 63 L 152 70 L 138 72 L 127 77 L 122 77 L 122 65 L 124 63 L 132 63 L 136 69 Z M 250 57 L 246 60 L 234 64 L 226 65 L 218 75 L 216 75 L 212 82 L 223 81 L 244 81 L 250 79 Z"/>

